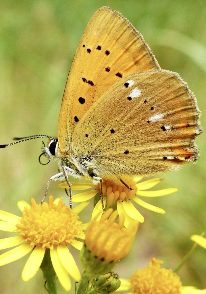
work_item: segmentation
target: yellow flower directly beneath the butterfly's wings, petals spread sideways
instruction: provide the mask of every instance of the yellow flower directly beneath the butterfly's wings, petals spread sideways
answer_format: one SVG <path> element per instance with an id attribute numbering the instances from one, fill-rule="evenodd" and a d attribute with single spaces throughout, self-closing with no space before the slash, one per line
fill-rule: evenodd
<path id="1" fill-rule="evenodd" d="M 133 190 L 130 190 L 127 188 L 121 181 L 107 181 L 105 180 L 102 185 L 103 190 L 103 196 L 104 196 L 104 206 L 105 210 L 107 210 L 109 207 L 112 207 L 114 209 L 117 209 L 119 215 L 124 214 L 125 227 L 128 226 L 129 222 L 134 219 L 138 220 L 140 223 L 144 222 L 144 217 L 141 213 L 134 207 L 132 204 L 132 201 L 139 204 L 140 206 L 147 208 L 151 211 L 155 211 L 157 213 L 165 213 L 165 211 L 162 208 L 156 207 L 154 205 L 151 205 L 142 199 L 140 199 L 137 196 L 143 196 L 143 197 L 158 197 L 158 196 L 164 196 L 171 193 L 174 193 L 178 191 L 176 188 L 168 188 L 163 190 L 157 190 L 157 191 L 144 191 L 149 188 L 154 187 L 157 185 L 162 179 L 159 178 L 153 178 L 151 180 L 147 180 L 144 182 L 138 183 L 142 178 L 123 178 L 123 181 Z M 61 183 L 59 184 L 59 187 L 61 188 L 68 188 L 67 183 Z M 94 197 L 97 193 L 100 192 L 100 186 L 93 186 L 92 183 L 72 183 L 72 190 L 74 191 L 81 191 L 81 190 L 87 190 L 91 189 L 93 190 L 86 191 L 83 193 L 75 194 L 72 196 L 73 202 L 82 202 L 87 201 Z M 131 201 L 132 200 L 132 201 Z M 101 200 L 97 203 L 97 205 L 94 208 L 92 218 L 99 214 L 102 211 L 102 204 Z"/>

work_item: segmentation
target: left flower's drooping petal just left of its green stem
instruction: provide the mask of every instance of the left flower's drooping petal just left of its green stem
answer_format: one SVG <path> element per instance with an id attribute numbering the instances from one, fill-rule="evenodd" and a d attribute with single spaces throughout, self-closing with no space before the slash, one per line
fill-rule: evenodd
<path id="1" fill-rule="evenodd" d="M 44 258 L 45 250 L 46 248 L 36 246 L 31 252 L 31 255 L 26 261 L 23 271 L 21 273 L 21 277 L 24 282 L 27 282 L 36 275 Z"/>

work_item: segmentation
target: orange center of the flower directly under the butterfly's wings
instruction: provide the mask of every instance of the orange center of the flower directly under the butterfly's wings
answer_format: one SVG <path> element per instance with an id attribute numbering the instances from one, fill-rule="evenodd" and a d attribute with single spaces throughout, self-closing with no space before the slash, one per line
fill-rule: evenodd
<path id="1" fill-rule="evenodd" d="M 109 203 L 114 203 L 116 201 L 123 201 L 124 199 L 134 198 L 137 192 L 136 182 L 134 179 L 123 178 L 122 179 L 130 188 L 127 188 L 121 181 L 104 181 L 102 184 L 103 195 L 107 196 L 107 200 Z M 100 184 L 96 188 L 100 190 Z"/>

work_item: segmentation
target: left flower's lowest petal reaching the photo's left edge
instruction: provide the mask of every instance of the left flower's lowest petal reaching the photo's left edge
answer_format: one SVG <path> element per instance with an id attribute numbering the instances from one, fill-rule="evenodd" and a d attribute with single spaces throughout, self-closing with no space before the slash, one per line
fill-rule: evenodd
<path id="1" fill-rule="evenodd" d="M 15 261 L 27 253 L 29 253 L 33 249 L 28 243 L 22 244 L 19 247 L 11 249 L 0 255 L 0 266 Z"/>

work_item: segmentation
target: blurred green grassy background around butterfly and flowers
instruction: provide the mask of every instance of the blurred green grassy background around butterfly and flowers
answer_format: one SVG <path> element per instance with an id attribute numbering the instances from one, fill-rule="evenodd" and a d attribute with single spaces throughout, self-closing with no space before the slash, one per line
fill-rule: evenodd
<path id="1" fill-rule="evenodd" d="M 82 33 L 101 6 L 120 11 L 144 36 L 163 69 L 180 73 L 195 93 L 206 123 L 206 1 L 18 0 L 0 2 L 0 143 L 14 136 L 57 135 L 59 110 L 72 59 Z M 46 140 L 45 140 L 46 141 Z M 129 278 L 155 256 L 173 270 L 191 248 L 190 235 L 201 234 L 206 224 L 205 133 L 197 138 L 201 157 L 180 171 L 161 174 L 155 188 L 177 187 L 179 192 L 147 199 L 166 215 L 139 208 L 140 225 L 129 256 L 114 270 Z M 18 214 L 17 201 L 41 201 L 57 164 L 38 162 L 41 140 L 0 150 L 0 209 Z M 153 189 L 154 190 L 154 189 Z M 51 183 L 49 194 L 64 196 Z M 92 202 L 92 201 L 91 201 Z M 88 221 L 92 203 L 80 216 Z M 0 232 L 1 238 L 12 236 Z M 77 250 L 73 250 L 78 260 Z M 39 270 L 29 282 L 21 280 L 26 255 L 0 268 L 0 293 L 46 293 Z M 183 285 L 206 288 L 206 250 L 197 246 L 180 270 Z M 65 291 L 58 286 L 59 293 Z"/>

